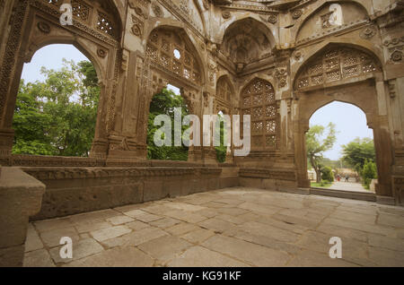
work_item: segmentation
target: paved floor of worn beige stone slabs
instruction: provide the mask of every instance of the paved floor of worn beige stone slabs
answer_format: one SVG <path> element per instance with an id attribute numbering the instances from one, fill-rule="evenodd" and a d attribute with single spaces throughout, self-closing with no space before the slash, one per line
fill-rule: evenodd
<path id="1" fill-rule="evenodd" d="M 404 208 L 227 188 L 31 223 L 24 265 L 404 266 Z"/>

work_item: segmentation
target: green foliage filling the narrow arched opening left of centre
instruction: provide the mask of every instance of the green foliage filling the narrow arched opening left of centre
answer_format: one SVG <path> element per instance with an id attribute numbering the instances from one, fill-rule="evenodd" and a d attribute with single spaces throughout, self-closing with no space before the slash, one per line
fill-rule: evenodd
<path id="1" fill-rule="evenodd" d="M 163 89 L 162 92 L 154 95 L 150 103 L 150 112 L 147 127 L 147 159 L 148 160 L 188 160 L 189 148 L 182 146 L 174 146 L 174 108 L 181 108 L 181 119 L 189 115 L 189 109 L 184 99 L 174 92 Z M 154 118 L 159 115 L 167 115 L 171 117 L 171 140 L 172 146 L 158 147 L 154 144 L 154 134 L 159 129 L 154 125 Z M 182 134 L 188 126 L 182 126 Z"/>

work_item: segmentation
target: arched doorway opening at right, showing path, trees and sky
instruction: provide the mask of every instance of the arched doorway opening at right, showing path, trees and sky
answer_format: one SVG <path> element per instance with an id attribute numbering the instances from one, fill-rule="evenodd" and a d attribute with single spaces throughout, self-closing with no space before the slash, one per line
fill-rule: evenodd
<path id="1" fill-rule="evenodd" d="M 306 133 L 306 154 L 312 187 L 374 193 L 373 130 L 362 109 L 340 101 L 319 108 Z"/>

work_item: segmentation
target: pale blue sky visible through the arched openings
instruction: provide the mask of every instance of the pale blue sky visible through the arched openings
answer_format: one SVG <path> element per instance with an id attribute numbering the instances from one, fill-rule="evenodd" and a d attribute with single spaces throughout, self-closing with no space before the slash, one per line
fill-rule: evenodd
<path id="1" fill-rule="evenodd" d="M 40 67 L 58 69 L 62 67 L 62 58 L 73 59 L 75 63 L 88 60 L 72 45 L 50 45 L 37 51 L 31 63 L 24 65 L 22 79 L 25 82 L 44 81 L 45 78 L 40 74 Z M 180 94 L 178 88 L 172 85 L 168 88 Z M 373 130 L 367 127 L 364 112 L 354 105 L 342 102 L 330 103 L 313 114 L 310 125 L 328 125 L 329 122 L 337 125 L 338 132 L 334 148 L 324 153 L 324 156 L 331 160 L 338 160 L 342 156 L 341 145 L 355 140 L 356 137 L 373 138 Z"/>

